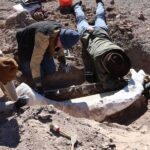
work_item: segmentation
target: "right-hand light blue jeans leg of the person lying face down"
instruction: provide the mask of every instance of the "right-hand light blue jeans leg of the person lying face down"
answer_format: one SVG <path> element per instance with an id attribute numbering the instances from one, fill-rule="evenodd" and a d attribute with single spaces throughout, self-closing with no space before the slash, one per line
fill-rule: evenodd
<path id="1" fill-rule="evenodd" d="M 102 2 L 97 3 L 95 28 L 96 29 L 103 28 L 104 30 L 108 31 L 108 27 L 105 19 L 105 9 Z"/>

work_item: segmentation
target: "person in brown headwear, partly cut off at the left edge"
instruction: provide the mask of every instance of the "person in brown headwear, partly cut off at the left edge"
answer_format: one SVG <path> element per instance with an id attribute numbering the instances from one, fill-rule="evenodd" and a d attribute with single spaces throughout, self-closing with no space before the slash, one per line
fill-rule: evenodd
<path id="1" fill-rule="evenodd" d="M 4 94 L 8 94 L 9 100 L 6 101 L 4 97 L 0 98 L 0 112 L 15 110 L 26 105 L 28 97 L 17 97 L 15 86 L 12 80 L 15 79 L 18 71 L 16 61 L 10 57 L 0 57 L 0 85 Z"/>

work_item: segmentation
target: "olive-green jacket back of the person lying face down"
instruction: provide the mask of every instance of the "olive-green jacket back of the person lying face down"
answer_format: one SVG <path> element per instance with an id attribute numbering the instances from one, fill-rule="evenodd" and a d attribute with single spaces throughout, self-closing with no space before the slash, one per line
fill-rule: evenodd
<path id="1" fill-rule="evenodd" d="M 93 59 L 111 50 L 123 51 L 111 41 L 108 33 L 103 29 L 85 31 L 82 35 L 81 41 L 83 49 L 86 49 Z"/>

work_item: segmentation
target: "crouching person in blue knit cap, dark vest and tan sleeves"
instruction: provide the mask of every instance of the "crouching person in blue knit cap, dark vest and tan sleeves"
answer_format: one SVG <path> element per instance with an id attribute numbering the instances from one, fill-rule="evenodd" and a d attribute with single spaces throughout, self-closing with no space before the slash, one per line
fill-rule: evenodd
<path id="1" fill-rule="evenodd" d="M 63 28 L 58 22 L 41 21 L 18 31 L 16 38 L 24 81 L 36 89 L 35 77 L 40 76 L 43 80 L 55 73 L 54 54 L 60 54 L 60 64 L 65 67 L 63 50 L 76 44 L 79 34 L 75 30 Z"/>

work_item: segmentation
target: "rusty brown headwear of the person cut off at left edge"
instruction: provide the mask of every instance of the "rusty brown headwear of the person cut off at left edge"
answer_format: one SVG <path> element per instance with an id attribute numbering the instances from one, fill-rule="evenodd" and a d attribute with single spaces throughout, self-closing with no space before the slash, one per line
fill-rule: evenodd
<path id="1" fill-rule="evenodd" d="M 10 57 L 0 57 L 0 82 L 6 84 L 15 79 L 18 71 L 16 61 Z"/>

